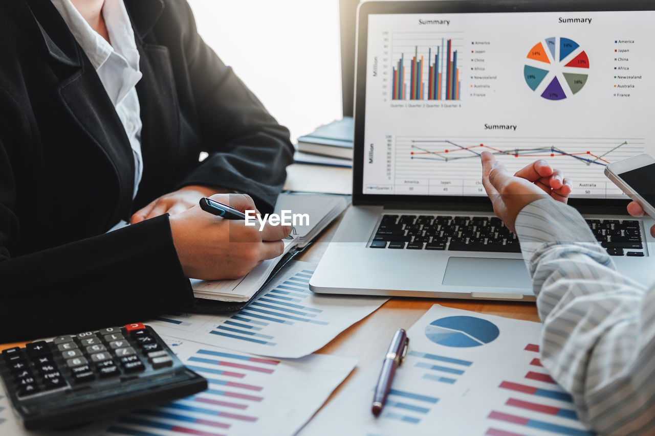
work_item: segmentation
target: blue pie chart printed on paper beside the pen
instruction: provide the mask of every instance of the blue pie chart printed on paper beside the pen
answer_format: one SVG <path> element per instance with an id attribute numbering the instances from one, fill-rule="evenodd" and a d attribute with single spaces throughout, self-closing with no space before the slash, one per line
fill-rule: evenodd
<path id="1" fill-rule="evenodd" d="M 494 323 L 474 316 L 448 316 L 425 327 L 425 336 L 435 344 L 457 348 L 489 344 L 499 334 Z"/>

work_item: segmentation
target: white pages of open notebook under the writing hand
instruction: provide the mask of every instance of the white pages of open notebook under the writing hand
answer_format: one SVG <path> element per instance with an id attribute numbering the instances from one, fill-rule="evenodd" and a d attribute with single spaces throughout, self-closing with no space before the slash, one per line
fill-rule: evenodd
<path id="1" fill-rule="evenodd" d="M 309 214 L 309 225 L 293 227 L 289 238 L 284 240 L 284 253 L 280 257 L 264 261 L 247 276 L 236 280 L 215 280 L 212 282 L 191 279 L 193 295 L 201 299 L 244 302 L 259 291 L 271 275 L 276 264 L 286 253 L 302 249 L 348 206 L 344 196 L 326 194 L 281 194 L 275 205 L 276 213 L 290 210 L 293 213 Z"/>

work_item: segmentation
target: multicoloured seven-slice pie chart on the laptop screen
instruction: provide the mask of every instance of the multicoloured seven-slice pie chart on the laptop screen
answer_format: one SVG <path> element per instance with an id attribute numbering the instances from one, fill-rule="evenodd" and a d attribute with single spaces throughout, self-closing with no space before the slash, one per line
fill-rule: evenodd
<path id="1" fill-rule="evenodd" d="M 569 38 L 552 37 L 528 52 L 523 76 L 534 92 L 546 100 L 564 100 L 580 92 L 587 82 L 589 57 Z"/>

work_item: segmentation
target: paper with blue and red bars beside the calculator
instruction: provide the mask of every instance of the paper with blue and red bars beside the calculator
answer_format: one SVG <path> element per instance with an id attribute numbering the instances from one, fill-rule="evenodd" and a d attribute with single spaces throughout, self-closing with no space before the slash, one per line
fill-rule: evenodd
<path id="1" fill-rule="evenodd" d="M 208 390 L 136 410 L 113 422 L 106 433 L 290 435 L 309 420 L 355 363 L 326 355 L 286 362 L 190 341 L 166 342 L 189 369 L 208 380 Z"/>

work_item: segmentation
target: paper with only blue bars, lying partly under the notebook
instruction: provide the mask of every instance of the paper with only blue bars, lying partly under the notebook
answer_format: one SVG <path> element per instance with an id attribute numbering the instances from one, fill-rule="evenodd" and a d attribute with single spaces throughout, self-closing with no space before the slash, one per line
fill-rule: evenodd
<path id="1" fill-rule="evenodd" d="M 309 290 L 314 267 L 290 263 L 239 312 L 221 316 L 176 312 L 149 323 L 160 334 L 242 352 L 292 358 L 310 354 L 386 301 L 315 295 Z"/>

